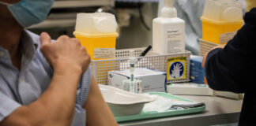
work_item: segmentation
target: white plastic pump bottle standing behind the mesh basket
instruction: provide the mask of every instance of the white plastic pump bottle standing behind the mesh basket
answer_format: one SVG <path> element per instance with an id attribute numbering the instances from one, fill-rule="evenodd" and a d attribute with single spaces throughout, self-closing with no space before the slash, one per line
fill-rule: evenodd
<path id="1" fill-rule="evenodd" d="M 185 51 L 185 21 L 177 17 L 174 0 L 164 0 L 160 17 L 153 20 L 152 50 L 157 54 Z"/>

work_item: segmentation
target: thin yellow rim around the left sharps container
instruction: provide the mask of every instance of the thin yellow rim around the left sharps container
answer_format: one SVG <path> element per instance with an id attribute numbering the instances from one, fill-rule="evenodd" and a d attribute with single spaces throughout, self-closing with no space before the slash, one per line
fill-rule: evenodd
<path id="1" fill-rule="evenodd" d="M 87 38 L 104 38 L 104 37 L 117 37 L 117 36 L 119 36 L 118 33 L 88 34 L 88 33 L 82 33 L 82 32 L 77 32 L 77 31 L 73 31 L 73 35 L 80 35 L 82 37 L 87 37 Z"/>

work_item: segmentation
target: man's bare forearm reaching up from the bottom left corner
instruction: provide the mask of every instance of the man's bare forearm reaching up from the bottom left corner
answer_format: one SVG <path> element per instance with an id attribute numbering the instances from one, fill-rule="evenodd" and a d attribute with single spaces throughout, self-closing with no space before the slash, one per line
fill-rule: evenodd
<path id="1" fill-rule="evenodd" d="M 56 71 L 47 91 L 35 102 L 21 106 L 11 113 L 2 125 L 70 126 L 81 71 L 79 69 Z"/>

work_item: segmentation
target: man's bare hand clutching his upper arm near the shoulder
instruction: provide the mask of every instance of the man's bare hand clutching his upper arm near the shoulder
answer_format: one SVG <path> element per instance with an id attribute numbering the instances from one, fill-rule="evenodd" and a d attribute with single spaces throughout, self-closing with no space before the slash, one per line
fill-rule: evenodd
<path id="1" fill-rule="evenodd" d="M 51 43 L 50 35 L 43 32 L 41 34 L 41 44 L 43 56 L 46 57 L 55 71 L 57 69 L 75 68 L 83 73 L 88 68 L 90 57 L 78 39 L 62 35 L 55 43 Z"/>

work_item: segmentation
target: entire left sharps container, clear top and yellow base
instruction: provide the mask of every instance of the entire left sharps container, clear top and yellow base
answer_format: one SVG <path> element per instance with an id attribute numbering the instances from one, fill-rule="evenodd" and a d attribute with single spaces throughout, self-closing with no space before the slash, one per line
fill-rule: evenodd
<path id="1" fill-rule="evenodd" d="M 111 13 L 78 13 L 73 35 L 85 46 L 92 60 L 115 58 L 117 23 Z"/>

